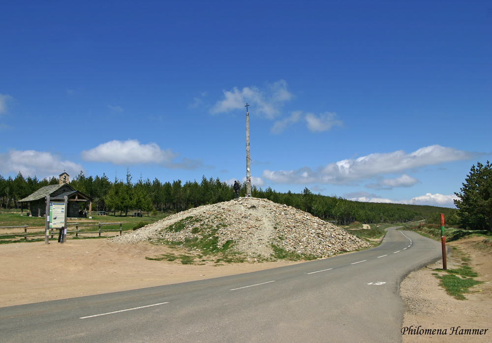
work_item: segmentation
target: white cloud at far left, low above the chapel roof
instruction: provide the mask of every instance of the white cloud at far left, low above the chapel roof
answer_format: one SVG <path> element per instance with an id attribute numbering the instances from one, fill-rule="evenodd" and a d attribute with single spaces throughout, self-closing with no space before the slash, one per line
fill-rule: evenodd
<path id="1" fill-rule="evenodd" d="M 61 160 L 58 155 L 51 152 L 35 150 L 10 150 L 0 154 L 0 171 L 4 174 L 21 172 L 23 176 L 46 176 L 59 175 L 66 171 L 70 175 L 76 175 L 84 171 L 82 165 Z"/>

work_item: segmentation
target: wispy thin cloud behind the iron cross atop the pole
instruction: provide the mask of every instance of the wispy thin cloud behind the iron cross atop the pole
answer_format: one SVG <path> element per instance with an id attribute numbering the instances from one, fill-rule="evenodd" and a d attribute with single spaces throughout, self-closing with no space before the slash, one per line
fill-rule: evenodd
<path id="1" fill-rule="evenodd" d="M 292 98 L 292 93 L 287 90 L 287 83 L 279 80 L 273 84 L 267 84 L 264 89 L 256 86 L 237 87 L 232 90 L 223 90 L 224 98 L 215 103 L 210 111 L 213 114 L 227 113 L 234 110 L 245 110 L 245 105 L 251 105 L 248 111 L 261 114 L 268 119 L 273 119 L 280 114 L 280 108 Z"/>

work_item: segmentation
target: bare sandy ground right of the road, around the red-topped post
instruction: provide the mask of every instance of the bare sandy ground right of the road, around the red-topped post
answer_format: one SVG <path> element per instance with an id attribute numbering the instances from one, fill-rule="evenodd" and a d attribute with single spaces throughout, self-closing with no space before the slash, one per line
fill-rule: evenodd
<path id="1" fill-rule="evenodd" d="M 492 264 L 491 249 L 480 242 L 483 237 L 473 237 L 448 243 L 459 250 L 448 255 L 448 269 L 458 268 L 461 259 L 458 252 L 469 257 L 469 265 L 479 274 L 475 280 L 483 284 L 470 288 L 472 293 L 464 294 L 467 300 L 456 300 L 439 286 L 439 280 L 432 275 L 432 269 L 442 268 L 442 261 L 412 272 L 401 283 L 400 294 L 407 303 L 407 312 L 402 327 L 423 329 L 447 329 L 447 335 L 402 335 L 403 343 L 452 343 L 492 342 Z M 450 335 L 451 328 L 489 329 L 485 335 Z"/>

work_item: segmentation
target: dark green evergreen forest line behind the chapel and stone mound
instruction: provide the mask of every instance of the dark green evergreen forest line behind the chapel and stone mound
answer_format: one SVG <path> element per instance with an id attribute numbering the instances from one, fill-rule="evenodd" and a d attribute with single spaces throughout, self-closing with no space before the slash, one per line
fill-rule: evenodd
<path id="1" fill-rule="evenodd" d="M 58 179 L 24 178 L 21 173 L 14 179 L 0 175 L 0 207 L 19 208 L 18 200 L 50 184 L 58 184 Z M 114 181 L 110 181 L 105 174 L 92 177 L 80 172 L 70 181 L 70 186 L 93 199 L 92 210 L 111 211 L 115 215 L 126 215 L 133 210 L 147 213 L 155 210 L 179 212 L 235 198 L 232 185 L 227 185 L 218 178 L 207 179 L 205 176 L 200 183 L 196 180 L 186 181 L 184 184 L 181 180 L 161 182 L 157 178 L 153 181 L 140 178 L 134 183 L 128 171 L 124 180 L 115 177 Z M 242 185 L 240 195 L 246 195 L 246 183 Z M 252 186 L 251 196 L 293 206 L 337 225 L 348 225 L 355 221 L 377 224 L 427 219 L 433 222 L 438 220 L 439 213 L 445 213 L 446 224 L 453 225 L 458 221 L 456 210 L 451 208 L 352 201 L 313 194 L 307 188 L 301 194 L 296 194 L 290 191 L 279 193 L 271 187 L 263 190 Z"/>

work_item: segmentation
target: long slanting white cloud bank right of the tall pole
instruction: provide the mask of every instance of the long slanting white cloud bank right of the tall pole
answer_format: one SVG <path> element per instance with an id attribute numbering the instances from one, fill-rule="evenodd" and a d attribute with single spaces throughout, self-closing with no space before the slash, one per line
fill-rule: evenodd
<path id="1" fill-rule="evenodd" d="M 457 150 L 451 147 L 431 145 L 420 148 L 412 153 L 403 150 L 390 153 L 374 153 L 357 159 L 346 159 L 318 167 L 312 171 L 303 167 L 291 171 L 263 171 L 263 178 L 277 183 L 323 183 L 345 185 L 372 177 L 380 177 L 388 173 L 399 173 L 413 168 L 438 165 L 446 162 L 469 160 L 481 155 Z M 397 179 L 386 179 L 388 185 L 405 186 L 414 182 L 413 178 L 403 175 Z M 408 186 L 405 186 L 408 187 Z"/>

